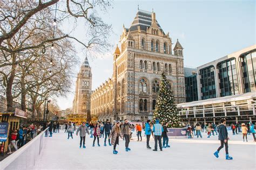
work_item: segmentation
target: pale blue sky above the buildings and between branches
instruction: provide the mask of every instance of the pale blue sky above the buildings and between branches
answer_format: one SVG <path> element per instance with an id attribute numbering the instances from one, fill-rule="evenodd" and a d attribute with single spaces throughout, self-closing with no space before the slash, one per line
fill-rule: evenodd
<path id="1" fill-rule="evenodd" d="M 255 1 L 113 1 L 113 8 L 102 18 L 112 24 L 109 41 L 115 46 L 125 27 L 130 27 L 139 9 L 156 12 L 156 19 L 172 42 L 184 47 L 184 65 L 198 67 L 255 44 Z M 63 25 L 68 26 L 68 25 Z M 65 29 L 65 28 L 64 28 Z M 78 24 L 76 33 L 83 32 Z M 174 47 L 174 45 L 173 45 Z M 79 45 L 77 45 L 79 51 Z M 92 90 L 112 76 L 112 51 L 88 56 L 92 67 Z M 85 54 L 78 53 L 80 62 Z M 74 70 L 77 73 L 79 66 Z M 72 91 L 75 91 L 75 77 Z M 72 107 L 73 93 L 57 98 L 60 108 Z"/>

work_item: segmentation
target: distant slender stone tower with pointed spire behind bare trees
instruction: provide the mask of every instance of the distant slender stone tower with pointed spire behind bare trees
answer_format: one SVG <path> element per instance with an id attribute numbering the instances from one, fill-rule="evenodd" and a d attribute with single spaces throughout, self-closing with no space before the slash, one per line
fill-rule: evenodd
<path id="1" fill-rule="evenodd" d="M 76 91 L 73 100 L 72 114 L 89 114 L 92 88 L 91 67 L 87 56 L 77 74 Z"/>

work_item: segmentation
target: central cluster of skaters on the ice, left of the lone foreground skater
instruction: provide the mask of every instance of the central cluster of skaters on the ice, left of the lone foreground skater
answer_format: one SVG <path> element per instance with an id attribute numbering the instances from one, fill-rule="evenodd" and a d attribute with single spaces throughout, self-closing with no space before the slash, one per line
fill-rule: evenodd
<path id="1" fill-rule="evenodd" d="M 69 122 L 65 124 L 65 133 L 68 133 L 68 139 L 71 137 L 73 139 L 73 133 L 76 131 L 76 135 L 80 137 L 80 148 L 86 148 L 85 146 L 85 136 L 86 133 L 93 139 L 92 147 L 95 147 L 95 142 L 97 139 L 97 145 L 99 144 L 99 139 L 104 138 L 104 146 L 107 146 L 107 142 L 109 146 L 113 145 L 113 154 L 117 154 L 116 150 L 117 145 L 119 144 L 119 139 L 125 140 L 125 151 L 131 151 L 129 147 L 130 140 L 132 140 L 132 131 L 136 129 L 137 141 L 142 141 L 142 131 L 145 131 L 146 136 L 146 148 L 151 149 L 149 145 L 151 135 L 154 138 L 155 145 L 153 151 L 158 150 L 158 145 L 160 151 L 163 151 L 163 148 L 170 147 L 169 138 L 168 138 L 168 124 L 161 125 L 159 120 L 156 120 L 156 123 L 153 124 L 150 120 L 145 124 L 131 124 L 127 119 L 124 122 L 116 122 L 114 125 L 111 125 L 109 120 L 106 120 L 105 123 L 85 123 L 79 126 L 77 130 L 75 130 L 75 123 Z M 161 139 L 163 138 L 163 142 Z"/>

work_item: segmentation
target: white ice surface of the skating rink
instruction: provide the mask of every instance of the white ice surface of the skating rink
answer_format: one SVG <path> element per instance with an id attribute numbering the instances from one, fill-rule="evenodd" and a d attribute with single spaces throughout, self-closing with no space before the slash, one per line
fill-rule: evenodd
<path id="1" fill-rule="evenodd" d="M 170 148 L 163 148 L 163 151 L 158 148 L 154 152 L 153 138 L 149 150 L 144 132 L 143 141 L 137 141 L 135 133 L 129 145 L 131 151 L 125 152 L 125 142 L 121 139 L 117 155 L 112 153 L 113 146 L 103 146 L 103 138 L 100 138 L 100 147 L 92 147 L 93 138 L 86 136 L 86 148 L 79 148 L 80 137 L 75 133 L 69 140 L 64 131 L 53 133 L 45 140 L 35 169 L 256 169 L 256 143 L 252 135 L 248 136 L 248 142 L 243 142 L 241 133 L 231 134 L 228 142 L 233 160 L 226 160 L 225 148 L 220 151 L 218 159 L 213 155 L 220 145 L 218 136 L 207 138 L 203 133 L 202 139 L 169 139 Z"/>

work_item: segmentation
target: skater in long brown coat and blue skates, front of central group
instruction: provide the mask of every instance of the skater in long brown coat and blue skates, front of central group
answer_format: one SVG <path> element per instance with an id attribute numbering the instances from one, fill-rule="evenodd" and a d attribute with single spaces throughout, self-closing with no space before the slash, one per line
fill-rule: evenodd
<path id="1" fill-rule="evenodd" d="M 114 145 L 113 146 L 113 154 L 117 154 L 118 151 L 116 150 L 117 145 L 119 145 L 119 137 L 122 138 L 122 134 L 121 134 L 121 129 L 120 129 L 120 122 L 117 122 L 111 132 L 110 132 L 110 136 L 109 136 L 109 140 L 111 138 L 111 144 Z"/>

